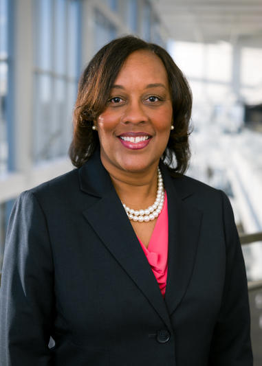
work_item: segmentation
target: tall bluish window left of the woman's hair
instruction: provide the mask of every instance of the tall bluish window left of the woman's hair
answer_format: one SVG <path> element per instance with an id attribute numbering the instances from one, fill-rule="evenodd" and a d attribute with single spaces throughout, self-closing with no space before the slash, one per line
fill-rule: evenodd
<path id="1" fill-rule="evenodd" d="M 80 73 L 80 0 L 36 0 L 35 163 L 67 154 Z"/>

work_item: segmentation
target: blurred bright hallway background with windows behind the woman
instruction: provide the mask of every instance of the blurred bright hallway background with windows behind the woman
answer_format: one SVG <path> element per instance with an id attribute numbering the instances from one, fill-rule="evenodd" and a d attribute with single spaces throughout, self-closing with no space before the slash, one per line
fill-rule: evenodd
<path id="1" fill-rule="evenodd" d="M 72 169 L 80 72 L 129 33 L 165 47 L 193 89 L 188 175 L 230 197 L 261 366 L 262 0 L 0 0 L 0 272 L 17 196 Z"/>

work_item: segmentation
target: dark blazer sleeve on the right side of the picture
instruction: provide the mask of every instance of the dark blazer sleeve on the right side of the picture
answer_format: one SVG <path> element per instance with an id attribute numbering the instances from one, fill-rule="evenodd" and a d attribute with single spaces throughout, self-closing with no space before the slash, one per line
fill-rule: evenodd
<path id="1" fill-rule="evenodd" d="M 208 365 L 252 366 L 250 308 L 245 264 L 232 207 L 226 194 L 223 192 L 221 194 L 226 241 L 226 277 Z"/>

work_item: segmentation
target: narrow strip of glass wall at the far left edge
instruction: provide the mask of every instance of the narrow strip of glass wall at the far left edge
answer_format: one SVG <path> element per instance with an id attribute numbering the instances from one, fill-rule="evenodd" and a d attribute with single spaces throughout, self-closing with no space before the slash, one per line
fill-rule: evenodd
<path id="1" fill-rule="evenodd" d="M 8 170 L 8 0 L 0 0 L 0 174 Z"/>

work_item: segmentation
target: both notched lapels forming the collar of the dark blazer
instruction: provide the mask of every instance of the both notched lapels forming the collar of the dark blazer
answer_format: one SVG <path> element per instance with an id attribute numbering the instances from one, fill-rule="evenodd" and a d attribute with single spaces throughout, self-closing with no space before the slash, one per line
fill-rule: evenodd
<path id="1" fill-rule="evenodd" d="M 165 301 L 109 174 L 100 161 L 99 149 L 80 168 L 79 179 L 81 190 L 97 197 L 95 203 L 92 200 L 92 205 L 83 212 L 85 218 L 172 332 L 169 315 L 179 305 L 190 281 L 201 213 L 183 201 L 193 192 L 176 183 L 177 179 L 171 178 L 162 162 L 161 170 L 168 197 L 169 220 Z"/>

